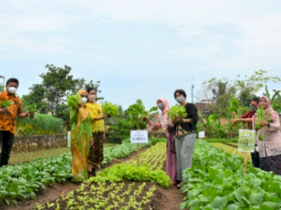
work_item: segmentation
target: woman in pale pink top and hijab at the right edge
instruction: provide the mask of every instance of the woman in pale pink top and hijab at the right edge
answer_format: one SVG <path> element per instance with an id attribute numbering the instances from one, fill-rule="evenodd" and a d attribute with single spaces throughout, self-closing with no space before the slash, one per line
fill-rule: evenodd
<path id="1" fill-rule="evenodd" d="M 270 99 L 263 96 L 259 99 L 258 109 L 263 106 L 263 120 L 261 129 L 257 130 L 256 138 L 262 135 L 263 141 L 258 140 L 259 153 L 266 172 L 281 175 L 281 132 L 280 119 L 276 111 L 271 108 Z M 257 116 L 254 115 L 254 127 L 256 127 Z"/>

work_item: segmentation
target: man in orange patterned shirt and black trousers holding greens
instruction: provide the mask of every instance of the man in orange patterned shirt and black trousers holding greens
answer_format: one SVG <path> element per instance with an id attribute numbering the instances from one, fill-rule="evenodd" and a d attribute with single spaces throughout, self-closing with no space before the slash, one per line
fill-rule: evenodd
<path id="1" fill-rule="evenodd" d="M 11 102 L 11 105 L 8 106 L 8 108 L 0 107 L 0 144 L 2 144 L 0 167 L 8 165 L 8 160 L 13 147 L 13 139 L 15 137 L 16 117 L 33 118 L 32 113 L 25 113 L 23 111 L 22 101 L 15 95 L 18 85 L 18 79 L 10 78 L 6 82 L 6 90 L 4 92 L 0 92 L 0 103 L 4 100 Z"/>

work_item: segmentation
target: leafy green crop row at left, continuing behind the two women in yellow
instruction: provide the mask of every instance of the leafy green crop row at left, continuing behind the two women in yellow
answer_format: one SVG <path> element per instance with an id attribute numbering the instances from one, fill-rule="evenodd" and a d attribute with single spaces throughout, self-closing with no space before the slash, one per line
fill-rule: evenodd
<path id="1" fill-rule="evenodd" d="M 152 139 L 150 144 L 157 139 Z M 148 144 L 140 144 L 140 148 Z M 137 151 L 136 144 L 124 143 L 114 147 L 104 148 L 103 165 L 109 164 L 112 160 L 126 158 Z M 35 192 L 45 189 L 44 184 L 49 186 L 52 183 L 63 182 L 72 177 L 71 174 L 71 153 L 65 153 L 52 158 L 38 158 L 32 162 L 23 162 L 18 165 L 6 166 L 0 169 L 0 200 L 6 204 L 18 200 L 34 199 Z"/>

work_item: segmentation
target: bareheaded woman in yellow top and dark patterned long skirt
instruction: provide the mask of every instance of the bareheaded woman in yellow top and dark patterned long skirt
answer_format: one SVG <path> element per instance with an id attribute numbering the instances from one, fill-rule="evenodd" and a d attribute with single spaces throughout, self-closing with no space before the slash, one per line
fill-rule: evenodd
<path id="1" fill-rule="evenodd" d="M 88 171 L 91 171 L 92 176 L 96 176 L 96 167 L 103 162 L 103 141 L 105 139 L 105 125 L 104 120 L 107 115 L 103 116 L 103 110 L 100 104 L 96 102 L 97 91 L 91 87 L 87 90 L 89 93 L 89 100 L 87 107 L 91 119 L 91 147 L 88 155 L 88 162 L 90 163 Z"/>

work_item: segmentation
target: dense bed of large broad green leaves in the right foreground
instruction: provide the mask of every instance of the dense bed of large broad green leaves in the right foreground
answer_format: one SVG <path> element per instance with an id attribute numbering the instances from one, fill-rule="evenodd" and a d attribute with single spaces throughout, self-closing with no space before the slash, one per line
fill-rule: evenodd
<path id="1" fill-rule="evenodd" d="M 187 192 L 181 209 L 280 209 L 281 178 L 247 167 L 243 160 L 204 142 L 196 144 L 193 165 L 183 173 Z"/>

